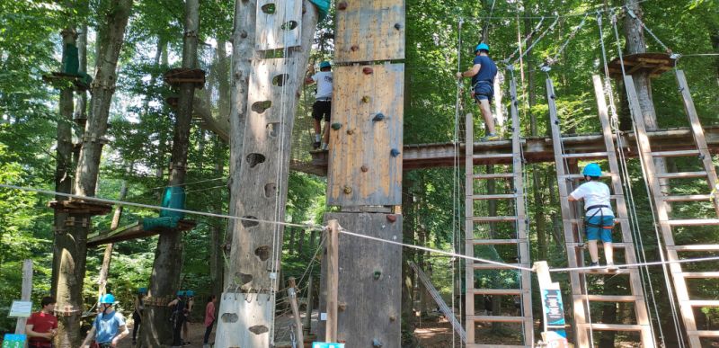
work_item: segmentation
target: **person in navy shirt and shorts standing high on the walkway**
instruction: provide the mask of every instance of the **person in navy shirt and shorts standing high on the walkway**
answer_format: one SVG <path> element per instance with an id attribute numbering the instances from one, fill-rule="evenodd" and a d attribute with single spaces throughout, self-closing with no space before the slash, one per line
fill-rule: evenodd
<path id="1" fill-rule="evenodd" d="M 489 58 L 489 46 L 482 42 L 475 48 L 475 61 L 472 67 L 457 73 L 457 78 L 472 77 L 472 97 L 479 105 L 484 122 L 487 125 L 487 134 L 482 141 L 497 140 L 497 130 L 494 129 L 494 117 L 490 104 L 494 96 L 494 76 L 497 76 L 497 65 Z"/>

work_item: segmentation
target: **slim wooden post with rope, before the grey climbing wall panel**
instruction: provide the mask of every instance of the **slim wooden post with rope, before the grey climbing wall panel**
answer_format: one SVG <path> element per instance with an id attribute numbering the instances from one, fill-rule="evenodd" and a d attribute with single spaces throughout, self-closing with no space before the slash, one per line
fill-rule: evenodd
<path id="1" fill-rule="evenodd" d="M 327 323 L 324 333 L 325 342 L 337 339 L 337 289 L 340 279 L 339 253 L 340 224 L 337 220 L 329 221 L 327 228 Z"/>

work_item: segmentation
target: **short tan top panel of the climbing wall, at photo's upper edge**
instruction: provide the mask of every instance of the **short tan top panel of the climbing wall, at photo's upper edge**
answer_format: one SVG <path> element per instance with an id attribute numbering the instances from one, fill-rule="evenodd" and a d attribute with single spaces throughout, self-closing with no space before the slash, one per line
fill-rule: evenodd
<path id="1" fill-rule="evenodd" d="M 404 0 L 336 4 L 335 63 L 404 59 Z"/>

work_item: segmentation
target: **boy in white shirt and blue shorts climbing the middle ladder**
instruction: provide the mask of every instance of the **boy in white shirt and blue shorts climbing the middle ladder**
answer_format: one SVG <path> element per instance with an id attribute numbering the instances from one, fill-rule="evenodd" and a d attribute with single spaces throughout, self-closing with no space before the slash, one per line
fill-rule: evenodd
<path id="1" fill-rule="evenodd" d="M 601 239 L 604 245 L 604 255 L 607 257 L 607 267 L 610 270 L 614 266 L 612 249 L 612 228 L 614 227 L 614 212 L 611 208 L 611 192 L 606 183 L 599 182 L 601 168 L 596 163 L 590 163 L 581 171 L 586 183 L 582 183 L 576 190 L 569 194 L 569 201 L 584 200 L 586 210 L 585 232 L 590 250 L 590 266 L 599 266 L 599 251 L 597 240 Z"/>

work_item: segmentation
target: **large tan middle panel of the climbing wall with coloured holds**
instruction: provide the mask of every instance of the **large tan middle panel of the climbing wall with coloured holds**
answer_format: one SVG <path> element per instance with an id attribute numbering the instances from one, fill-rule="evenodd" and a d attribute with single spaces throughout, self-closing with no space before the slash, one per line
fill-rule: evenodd
<path id="1" fill-rule="evenodd" d="M 337 67 L 333 85 L 328 204 L 402 204 L 404 64 Z"/>

